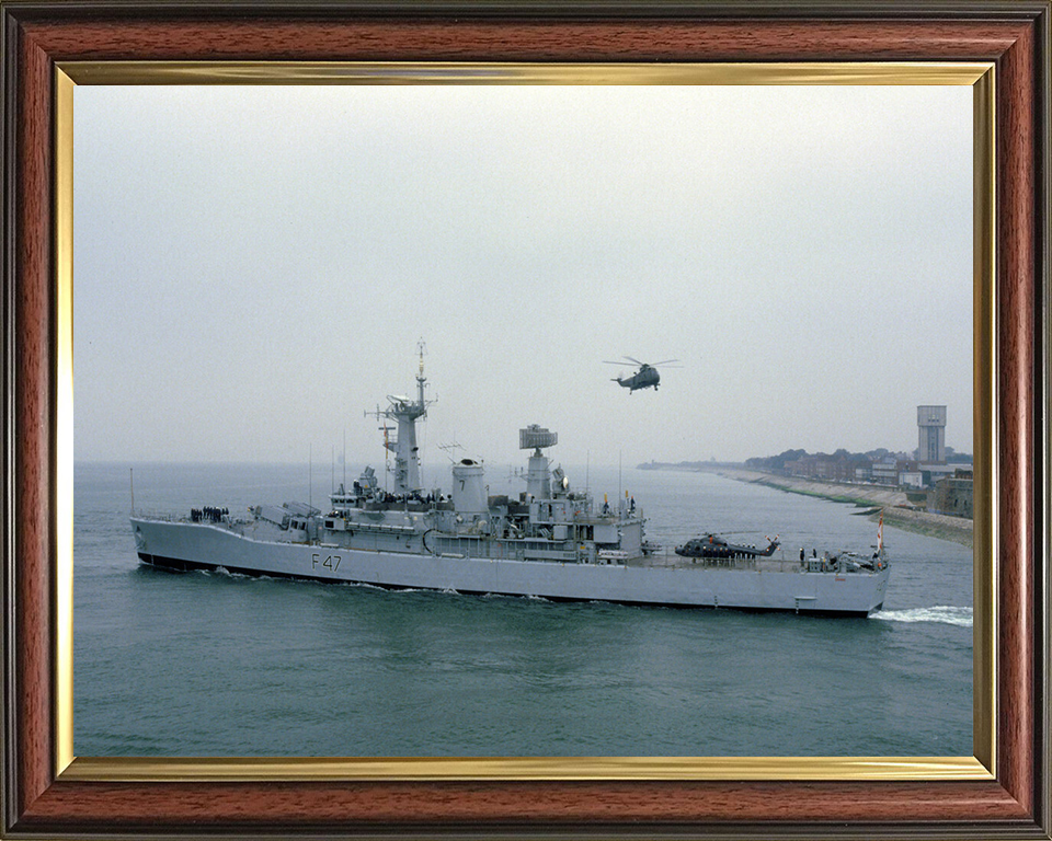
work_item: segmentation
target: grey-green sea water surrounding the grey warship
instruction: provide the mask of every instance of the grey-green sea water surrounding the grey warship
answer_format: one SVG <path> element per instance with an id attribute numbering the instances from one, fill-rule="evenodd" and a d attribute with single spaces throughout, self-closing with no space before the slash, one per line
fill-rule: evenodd
<path id="1" fill-rule="evenodd" d="M 495 473 L 490 493 L 524 487 Z M 849 505 L 711 473 L 568 473 L 598 504 L 628 492 L 664 545 L 777 533 L 792 561 L 876 543 Z M 135 505 L 324 507 L 330 471 L 308 475 L 136 464 Z M 843 619 L 173 574 L 138 563 L 130 506 L 128 464 L 76 465 L 78 756 L 972 754 L 972 552 L 956 543 L 885 526 L 884 609 Z"/>

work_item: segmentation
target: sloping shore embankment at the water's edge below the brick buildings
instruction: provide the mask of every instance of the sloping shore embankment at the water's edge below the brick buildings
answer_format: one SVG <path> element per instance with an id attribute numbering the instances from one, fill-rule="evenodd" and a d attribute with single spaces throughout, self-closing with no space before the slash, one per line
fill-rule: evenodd
<path id="1" fill-rule="evenodd" d="M 919 511 L 910 505 L 902 491 L 874 487 L 873 485 L 851 485 L 839 482 L 815 482 L 798 476 L 780 476 L 774 473 L 763 473 L 758 470 L 743 468 L 713 466 L 701 468 L 737 482 L 752 482 L 757 485 L 776 487 L 790 494 L 803 494 L 821 499 L 831 499 L 835 503 L 850 503 L 861 508 L 869 508 L 866 516 L 876 520 L 883 510 L 884 522 L 889 526 L 912 531 L 915 534 L 926 534 L 930 538 L 950 540 L 965 546 L 972 545 L 972 521 L 963 517 L 948 517 L 944 514 Z"/>

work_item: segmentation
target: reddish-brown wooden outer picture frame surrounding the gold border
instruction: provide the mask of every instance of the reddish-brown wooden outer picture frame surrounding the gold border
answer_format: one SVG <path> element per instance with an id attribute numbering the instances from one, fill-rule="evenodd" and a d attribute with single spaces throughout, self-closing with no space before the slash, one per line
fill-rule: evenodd
<path id="1" fill-rule="evenodd" d="M 2 2 L 4 738 L 0 831 L 158 836 L 1050 838 L 1048 2 L 957 5 Z M 64 62 L 992 62 L 995 200 L 988 302 L 996 371 L 993 483 L 994 775 L 790 781 L 675 773 L 572 781 L 331 776 L 207 769 L 160 781 L 64 773 L 55 652 L 57 494 L 66 431 L 54 139 Z M 67 150 L 68 151 L 68 150 Z M 64 198 L 65 196 L 65 198 Z M 982 255 L 979 256 L 981 261 Z M 58 371 L 58 373 L 57 373 Z M 67 453 L 68 454 L 68 453 Z M 67 606 L 68 607 L 68 606 Z M 65 643 L 64 643 L 65 640 Z M 256 767 L 258 768 L 258 767 Z M 265 779 L 253 779 L 253 777 Z M 278 774 L 279 776 L 279 774 Z M 628 775 L 631 777 L 631 774 Z M 660 779 L 658 779 L 660 777 Z M 746 779 L 747 777 L 747 779 Z"/>

